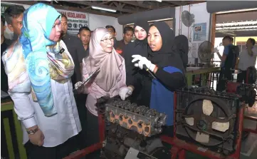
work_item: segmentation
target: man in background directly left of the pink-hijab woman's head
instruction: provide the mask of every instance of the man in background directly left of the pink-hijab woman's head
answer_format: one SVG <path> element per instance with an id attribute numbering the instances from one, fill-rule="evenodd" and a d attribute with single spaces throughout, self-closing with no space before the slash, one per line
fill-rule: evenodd
<path id="1" fill-rule="evenodd" d="M 84 49 L 85 49 L 85 53 L 83 54 L 83 58 L 85 58 L 86 56 L 89 55 L 89 41 L 90 41 L 90 37 L 91 37 L 91 31 L 88 28 L 88 26 L 83 26 L 80 28 L 80 30 L 78 31 L 78 38 L 80 39 L 80 41 L 83 43 Z M 80 66 L 82 68 L 82 66 Z"/>

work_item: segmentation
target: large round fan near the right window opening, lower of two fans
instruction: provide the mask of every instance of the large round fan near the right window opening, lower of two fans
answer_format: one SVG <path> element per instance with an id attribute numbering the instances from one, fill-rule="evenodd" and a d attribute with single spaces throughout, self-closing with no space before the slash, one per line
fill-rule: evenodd
<path id="1" fill-rule="evenodd" d="M 201 62 L 210 64 L 214 57 L 214 45 L 210 41 L 204 41 L 198 48 L 198 57 Z"/>

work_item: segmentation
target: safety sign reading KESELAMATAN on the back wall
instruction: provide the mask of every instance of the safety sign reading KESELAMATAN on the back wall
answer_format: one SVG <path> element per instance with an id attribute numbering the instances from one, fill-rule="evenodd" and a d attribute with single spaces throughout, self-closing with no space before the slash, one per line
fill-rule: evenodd
<path id="1" fill-rule="evenodd" d="M 67 11 L 56 9 L 59 13 L 64 14 L 68 18 L 68 33 L 78 34 L 78 30 L 82 26 L 88 26 L 88 14 L 78 11 Z"/>

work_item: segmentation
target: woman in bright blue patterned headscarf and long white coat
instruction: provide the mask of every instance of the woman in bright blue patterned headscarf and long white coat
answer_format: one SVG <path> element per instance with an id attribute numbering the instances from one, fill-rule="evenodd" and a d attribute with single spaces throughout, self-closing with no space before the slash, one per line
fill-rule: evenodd
<path id="1" fill-rule="evenodd" d="M 61 14 L 35 4 L 24 12 L 21 32 L 2 59 L 23 143 L 28 158 L 63 158 L 75 149 L 81 126 L 70 82 L 73 59 L 59 41 Z"/>

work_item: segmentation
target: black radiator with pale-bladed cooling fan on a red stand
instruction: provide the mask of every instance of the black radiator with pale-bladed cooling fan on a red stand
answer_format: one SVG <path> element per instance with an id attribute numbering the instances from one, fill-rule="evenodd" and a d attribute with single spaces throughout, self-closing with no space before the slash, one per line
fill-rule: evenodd
<path id="1" fill-rule="evenodd" d="M 174 93 L 172 158 L 185 151 L 207 158 L 239 158 L 243 128 L 243 103 L 236 94 L 209 88 L 183 88 Z"/>

